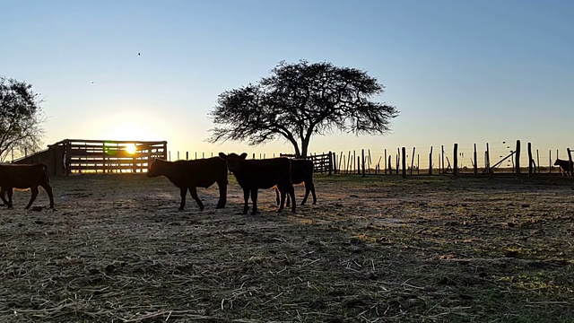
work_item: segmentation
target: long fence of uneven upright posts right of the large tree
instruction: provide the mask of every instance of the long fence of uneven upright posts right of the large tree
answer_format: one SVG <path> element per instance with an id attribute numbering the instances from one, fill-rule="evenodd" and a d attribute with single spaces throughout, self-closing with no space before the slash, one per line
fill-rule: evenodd
<path id="1" fill-rule="evenodd" d="M 527 143 L 526 147 L 522 146 L 520 140 L 516 141 L 516 145 L 507 142 L 502 142 L 502 144 L 502 149 L 500 149 L 500 143 L 492 149 L 487 143 L 483 152 L 478 150 L 476 144 L 471 147 L 466 144 L 465 149 L 462 150 L 459 144 L 453 144 L 452 149 L 440 145 L 435 154 L 431 146 L 428 157 L 425 154 L 421 156 L 414 147 L 412 153 L 405 147 L 398 148 L 396 153 L 384 149 L 384 153 L 380 153 L 381 156 L 377 157 L 371 157 L 370 150 L 360 149 L 349 151 L 348 154 L 341 152 L 339 156 L 334 155 L 334 170 L 362 176 L 396 174 L 405 177 L 422 174 L 447 175 L 455 178 L 462 175 L 490 176 L 495 173 L 534 176 L 535 174 L 552 174 L 552 171 L 560 172 L 560 168 L 553 165 L 556 158 L 560 156 L 558 150 L 555 155 L 552 154 L 552 150 L 548 152 L 548 159 L 545 160 L 548 162 L 546 167 L 542 166 L 545 163 L 544 156 L 541 156 L 538 149 L 534 149 L 531 143 Z M 566 151 L 566 160 L 571 161 L 570 148 Z M 483 161 L 479 161 L 479 157 Z M 500 160 L 495 157 L 500 157 Z M 564 159 L 564 157 L 561 158 Z M 481 162 L 483 165 L 479 165 Z"/>

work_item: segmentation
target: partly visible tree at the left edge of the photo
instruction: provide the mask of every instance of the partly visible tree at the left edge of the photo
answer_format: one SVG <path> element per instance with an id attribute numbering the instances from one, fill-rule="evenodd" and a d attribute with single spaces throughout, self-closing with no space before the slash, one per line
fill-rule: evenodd
<path id="1" fill-rule="evenodd" d="M 0 77 L 0 161 L 13 150 L 39 150 L 44 135 L 41 102 L 30 84 Z"/>

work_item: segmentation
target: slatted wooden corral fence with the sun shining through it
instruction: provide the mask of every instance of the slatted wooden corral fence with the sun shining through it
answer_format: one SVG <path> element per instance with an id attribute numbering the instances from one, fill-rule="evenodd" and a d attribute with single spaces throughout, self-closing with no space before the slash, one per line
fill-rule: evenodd
<path id="1" fill-rule="evenodd" d="M 167 159 L 167 142 L 65 139 L 15 163 L 44 162 L 50 175 L 145 172 L 155 158 Z"/>

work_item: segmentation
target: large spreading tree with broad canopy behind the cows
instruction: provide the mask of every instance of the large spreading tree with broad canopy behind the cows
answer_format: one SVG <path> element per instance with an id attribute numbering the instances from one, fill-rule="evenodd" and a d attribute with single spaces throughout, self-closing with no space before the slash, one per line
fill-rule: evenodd
<path id="1" fill-rule="evenodd" d="M 331 63 L 280 62 L 257 84 L 222 92 L 210 112 L 208 138 L 264 144 L 283 137 L 298 158 L 306 158 L 312 135 L 335 129 L 356 135 L 390 131 L 394 106 L 372 101 L 385 87 L 366 72 Z"/>

